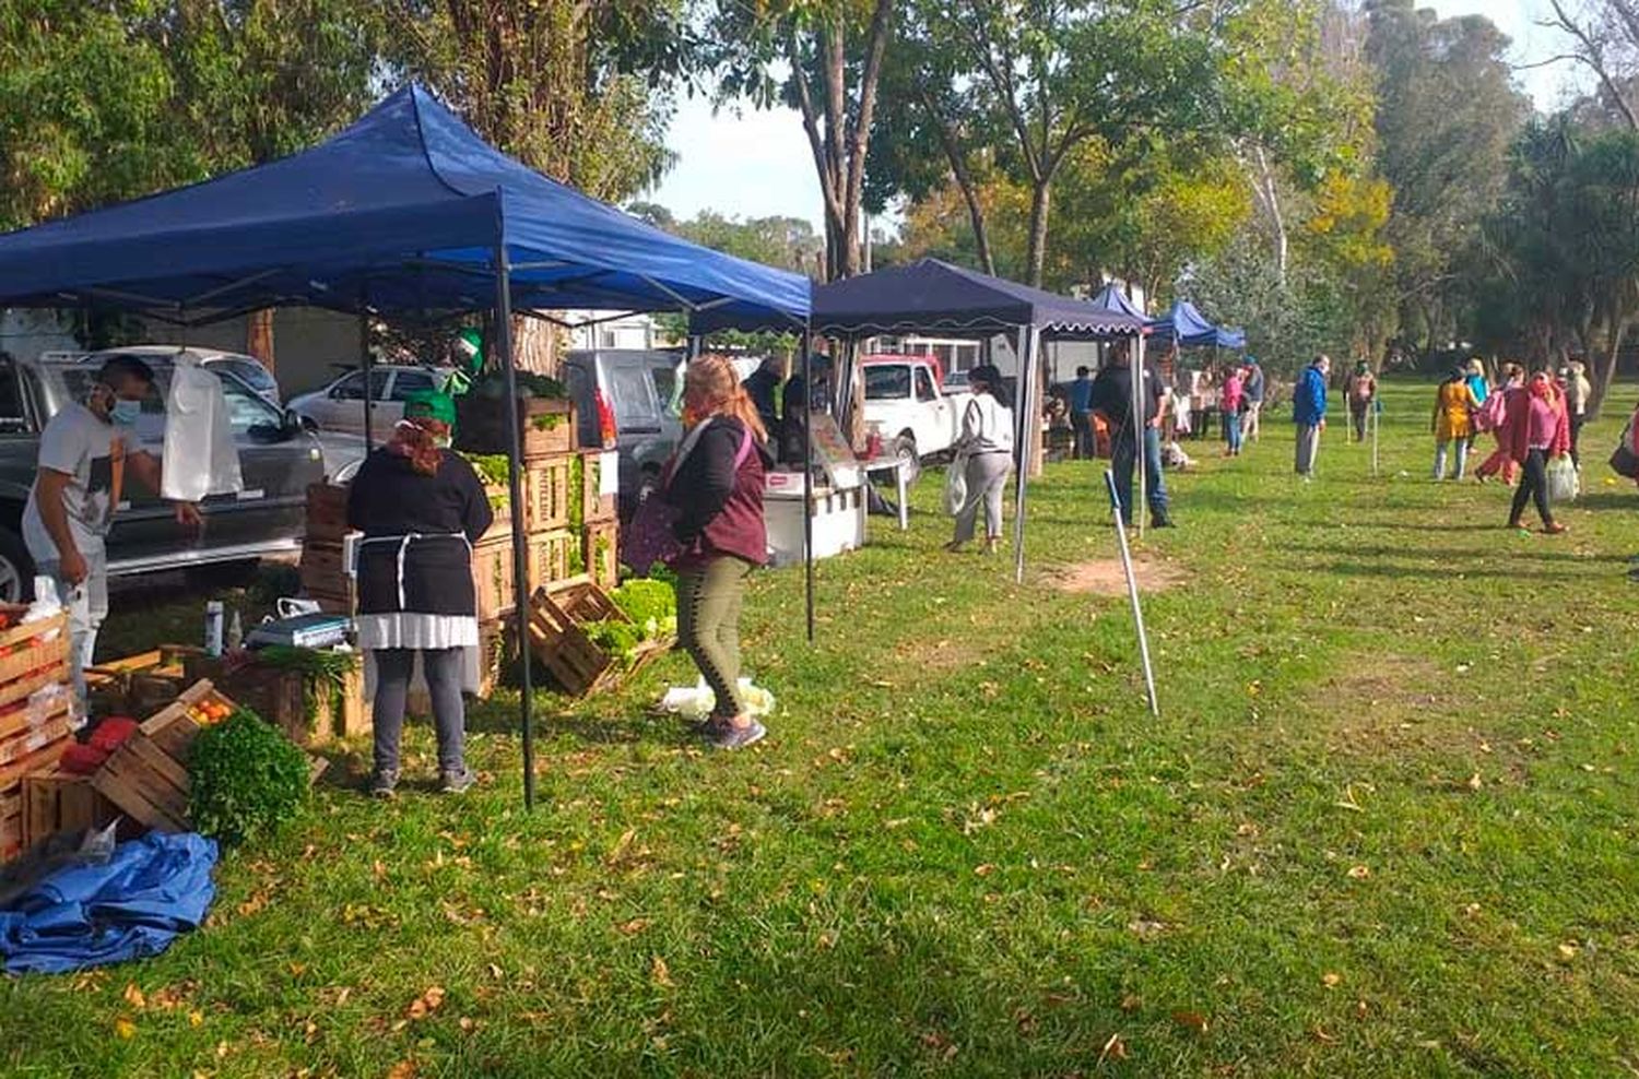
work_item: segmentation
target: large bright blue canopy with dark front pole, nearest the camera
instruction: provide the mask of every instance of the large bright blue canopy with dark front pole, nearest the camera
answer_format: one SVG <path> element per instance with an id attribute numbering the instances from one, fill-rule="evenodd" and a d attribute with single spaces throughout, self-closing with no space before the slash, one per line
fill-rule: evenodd
<path id="1" fill-rule="evenodd" d="M 547 180 L 406 87 L 292 157 L 0 236 L 0 306 L 110 308 L 190 326 L 272 306 L 495 313 L 516 396 L 520 308 L 723 311 L 787 327 L 808 280 L 744 262 Z M 508 409 L 511 499 L 523 504 Z M 528 567 L 513 514 L 524 801 L 534 801 Z"/>

